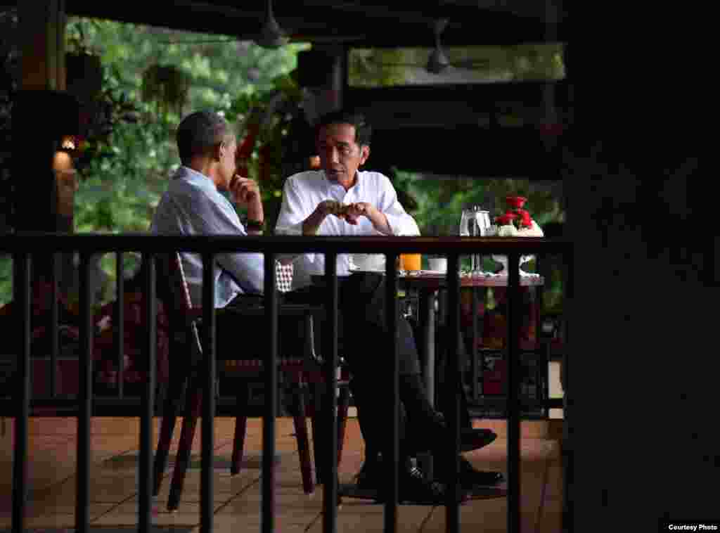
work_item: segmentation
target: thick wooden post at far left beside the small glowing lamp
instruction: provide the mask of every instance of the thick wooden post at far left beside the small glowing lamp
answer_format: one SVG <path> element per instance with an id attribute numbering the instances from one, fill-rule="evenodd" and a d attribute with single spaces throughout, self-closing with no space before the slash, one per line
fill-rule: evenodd
<path id="1" fill-rule="evenodd" d="M 24 0 L 18 17 L 22 63 L 12 120 L 12 225 L 16 232 L 71 233 L 76 176 L 60 143 L 63 135 L 78 133 L 79 109 L 65 92 L 65 1 Z M 72 256 L 65 255 L 61 278 L 73 269 Z"/>

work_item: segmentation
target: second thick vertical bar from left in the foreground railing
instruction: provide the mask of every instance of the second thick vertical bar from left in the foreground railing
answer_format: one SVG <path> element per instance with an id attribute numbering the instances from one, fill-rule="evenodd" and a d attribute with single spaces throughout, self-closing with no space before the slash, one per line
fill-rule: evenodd
<path id="1" fill-rule="evenodd" d="M 90 528 L 90 416 L 92 414 L 92 292 L 89 280 L 90 255 L 80 255 L 80 398 L 78 409 L 77 490 L 75 528 Z"/>

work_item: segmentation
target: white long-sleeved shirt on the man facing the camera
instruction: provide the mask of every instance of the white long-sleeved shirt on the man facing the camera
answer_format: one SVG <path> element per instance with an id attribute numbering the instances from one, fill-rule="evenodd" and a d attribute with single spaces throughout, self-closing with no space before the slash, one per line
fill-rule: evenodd
<path id="1" fill-rule="evenodd" d="M 358 171 L 353 187 L 348 191 L 341 184 L 330 182 L 324 171 L 306 171 L 290 176 L 285 182 L 282 207 L 275 228 L 276 233 L 302 235 L 303 221 L 315 211 L 320 202 L 337 200 L 343 204 L 367 202 L 374 205 L 387 217 L 392 235 L 418 236 L 420 230 L 413 217 L 408 215 L 397 201 L 397 192 L 387 176 L 379 172 Z M 356 225 L 348 224 L 334 215 L 328 215 L 318 228 L 318 235 L 328 236 L 379 236 L 372 222 L 361 217 Z M 383 268 L 384 256 L 362 254 L 354 256 L 355 262 L 362 261 L 363 268 Z M 338 276 L 350 273 L 353 259 L 348 254 L 338 255 Z M 325 274 L 323 254 L 303 254 L 293 262 L 292 288 L 310 285 L 310 276 Z"/>

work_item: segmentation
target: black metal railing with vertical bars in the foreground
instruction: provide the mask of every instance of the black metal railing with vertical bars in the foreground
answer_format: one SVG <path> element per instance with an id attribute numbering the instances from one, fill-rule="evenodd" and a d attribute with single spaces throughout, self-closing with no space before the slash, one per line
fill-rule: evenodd
<path id="1" fill-rule="evenodd" d="M 518 305 L 520 290 L 519 258 L 521 254 L 559 254 L 563 257 L 566 271 L 566 298 L 572 297 L 572 245 L 567 241 L 552 239 L 523 239 L 523 238 L 426 238 L 426 237 L 363 237 L 363 238 L 339 238 L 339 237 L 241 237 L 237 236 L 150 236 L 150 235 L 56 235 L 56 234 L 33 234 L 9 236 L 0 241 L 0 253 L 12 254 L 14 258 L 14 302 L 16 303 L 14 319 L 17 320 L 17 369 L 14 376 L 14 384 L 17 389 L 14 391 L 12 400 L 0 400 L 0 409 L 3 413 L 10 412 L 14 416 L 15 424 L 15 447 L 13 454 L 13 489 L 12 489 L 12 531 L 20 533 L 24 529 L 24 514 L 27 496 L 27 433 L 28 417 L 30 408 L 34 406 L 53 405 L 74 405 L 77 407 L 78 418 L 78 454 L 77 454 L 77 493 L 76 493 L 76 529 L 78 533 L 86 533 L 89 530 L 89 472 L 90 472 L 90 419 L 94 407 L 102 404 L 102 398 L 94 398 L 93 395 L 93 369 L 92 369 L 92 343 L 93 324 L 91 323 L 91 287 L 89 285 L 89 266 L 91 256 L 114 252 L 117 254 L 118 276 L 117 276 L 117 326 L 120 330 L 116 332 L 119 339 L 116 341 L 117 361 L 119 364 L 118 397 L 112 398 L 114 402 L 132 408 L 132 413 L 138 416 L 138 403 L 133 398 L 127 397 L 122 390 L 123 372 L 123 342 L 122 342 L 122 254 L 127 252 L 140 252 L 143 255 L 143 262 L 147 267 L 145 279 L 145 312 L 148 321 L 148 328 L 145 331 L 147 342 L 147 369 L 148 376 L 145 381 L 145 388 L 140 400 L 140 488 L 138 503 L 138 529 L 142 533 L 150 531 L 150 509 L 151 509 L 151 486 L 152 472 L 152 417 L 154 413 L 155 393 L 155 369 L 156 369 L 156 269 L 155 258 L 158 254 L 169 254 L 176 251 L 187 251 L 202 255 L 203 262 L 203 323 L 204 327 L 204 391 L 202 402 L 202 452 L 201 452 L 201 505 L 200 505 L 200 526 L 203 533 L 212 532 L 212 450 L 214 447 L 214 416 L 215 416 L 215 313 L 213 303 L 215 302 L 215 285 L 212 283 L 212 268 L 215 255 L 228 252 L 262 252 L 265 261 L 265 309 L 266 319 L 269 321 L 269 339 L 267 340 L 266 365 L 264 368 L 266 379 L 266 405 L 264 408 L 264 434 L 263 434 L 263 470 L 262 470 L 262 525 L 263 532 L 274 531 L 274 447 L 275 447 L 275 425 L 276 416 L 276 372 L 269 369 L 276 367 L 278 348 L 278 318 L 277 318 L 277 290 L 275 259 L 277 254 L 302 254 L 320 253 L 325 254 L 325 274 L 330 282 L 328 283 L 327 312 L 329 321 L 329 335 L 332 339 L 330 353 L 325 357 L 325 380 L 328 382 L 328 390 L 336 388 L 336 364 L 338 361 L 338 283 L 336 277 L 336 264 L 338 254 L 384 254 L 386 256 L 386 287 L 387 287 L 387 327 L 392 331 L 392 345 L 387 346 L 391 353 L 395 354 L 392 376 L 388 376 L 392 398 L 394 398 L 392 409 L 388 416 L 392 417 L 389 438 L 394 443 L 391 448 L 390 463 L 397 464 L 399 452 L 398 441 L 398 364 L 397 364 L 397 317 L 398 317 L 398 272 L 396 259 L 402 253 L 438 254 L 448 258 L 448 305 L 446 309 L 446 322 L 449 331 L 457 333 L 460 328 L 459 321 L 459 292 L 461 280 L 459 275 L 459 259 L 472 253 L 482 254 L 505 254 L 508 256 L 508 377 L 507 395 L 505 398 L 505 411 L 508 424 L 508 532 L 520 531 L 520 420 L 521 401 L 519 398 L 520 366 L 518 357 L 518 337 L 520 333 L 521 308 Z M 79 372 L 80 387 L 78 398 L 63 399 L 56 395 L 55 372 L 57 371 L 58 359 L 58 308 L 57 298 L 58 279 L 55 259 L 51 269 L 53 283 L 53 303 L 51 305 L 50 320 L 52 321 L 53 342 L 51 343 L 52 354 L 50 355 L 50 397 L 30 398 L 31 391 L 31 271 L 32 256 L 35 254 L 80 254 L 80 349 L 79 349 Z M 456 386 L 460 377 L 458 335 L 449 335 L 449 362 L 448 367 L 455 369 L 454 379 L 446 380 L 446 386 L 459 390 Z M 328 427 L 336 426 L 336 397 L 328 394 L 326 405 L 325 424 Z M 448 426 L 454 439 L 449 442 L 449 452 L 457 454 L 459 450 L 459 396 L 456 396 L 456 405 L 453 413 L 450 413 Z M 323 531 L 336 531 L 336 501 L 338 487 L 337 464 L 332 457 L 337 457 L 337 436 L 335 431 L 328 432 L 331 440 L 330 449 L 333 453 L 328 454 L 328 465 L 330 475 L 327 476 L 328 483 L 323 491 Z M 459 504 L 457 496 L 458 478 L 457 465 L 454 472 L 449 472 L 449 483 L 454 490 L 448 491 L 446 501 L 446 529 L 449 532 L 460 530 Z M 387 470 L 388 498 L 384 503 L 384 529 L 386 532 L 397 531 L 397 496 L 398 478 L 397 469 Z"/>

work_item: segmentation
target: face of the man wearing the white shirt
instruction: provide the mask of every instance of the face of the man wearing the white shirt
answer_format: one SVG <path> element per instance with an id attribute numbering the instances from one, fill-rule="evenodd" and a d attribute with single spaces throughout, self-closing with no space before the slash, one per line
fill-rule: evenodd
<path id="1" fill-rule="evenodd" d="M 355 173 L 370 153 L 369 146 L 359 146 L 355 140 L 355 126 L 329 124 L 318 132 L 320 166 L 331 182 L 346 189 L 355 182 Z"/>

